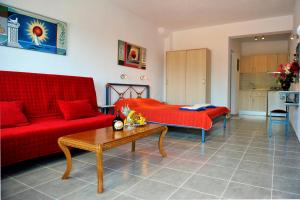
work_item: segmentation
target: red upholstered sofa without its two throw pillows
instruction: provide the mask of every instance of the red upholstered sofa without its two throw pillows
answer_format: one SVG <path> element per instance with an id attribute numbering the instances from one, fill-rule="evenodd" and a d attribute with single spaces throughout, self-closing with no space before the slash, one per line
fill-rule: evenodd
<path id="1" fill-rule="evenodd" d="M 65 120 L 57 100 L 80 99 L 90 101 L 96 116 Z M 97 110 L 94 82 L 86 77 L 0 71 L 0 101 L 21 101 L 29 120 L 0 129 L 2 166 L 59 152 L 59 137 L 111 126 L 114 118 Z"/>

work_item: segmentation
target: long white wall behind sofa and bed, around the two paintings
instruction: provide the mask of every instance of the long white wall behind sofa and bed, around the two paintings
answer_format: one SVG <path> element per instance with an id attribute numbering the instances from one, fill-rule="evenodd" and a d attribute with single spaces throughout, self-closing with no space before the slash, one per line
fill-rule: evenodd
<path id="1" fill-rule="evenodd" d="M 67 56 L 0 46 L 0 70 L 91 76 L 98 104 L 105 83 L 150 84 L 151 96 L 163 96 L 163 39 L 157 28 L 109 0 L 0 0 L 17 8 L 68 23 Z M 118 39 L 147 48 L 147 70 L 117 65 Z M 121 80 L 120 75 L 128 75 Z M 141 81 L 146 75 L 149 80 Z"/>

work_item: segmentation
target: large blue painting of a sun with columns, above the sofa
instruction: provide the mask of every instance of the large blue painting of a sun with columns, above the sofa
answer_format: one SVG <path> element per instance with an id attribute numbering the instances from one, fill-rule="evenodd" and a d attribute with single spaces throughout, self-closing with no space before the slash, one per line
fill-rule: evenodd
<path id="1" fill-rule="evenodd" d="M 0 4 L 0 46 L 67 54 L 67 24 Z"/>

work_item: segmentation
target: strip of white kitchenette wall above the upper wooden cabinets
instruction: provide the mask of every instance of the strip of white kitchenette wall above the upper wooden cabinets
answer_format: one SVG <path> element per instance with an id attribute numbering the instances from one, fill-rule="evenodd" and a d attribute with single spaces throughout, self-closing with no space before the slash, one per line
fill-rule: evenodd
<path id="1" fill-rule="evenodd" d="M 241 43 L 241 54 L 254 55 L 254 54 L 268 54 L 268 53 L 288 53 L 289 41 L 253 41 Z"/>

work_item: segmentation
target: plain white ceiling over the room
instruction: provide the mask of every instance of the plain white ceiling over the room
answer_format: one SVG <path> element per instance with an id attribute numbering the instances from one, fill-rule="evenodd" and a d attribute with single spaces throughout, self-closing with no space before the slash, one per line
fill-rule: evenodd
<path id="1" fill-rule="evenodd" d="M 294 0 L 111 0 L 170 30 L 289 15 Z"/>

